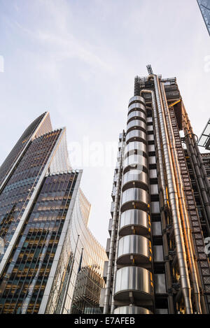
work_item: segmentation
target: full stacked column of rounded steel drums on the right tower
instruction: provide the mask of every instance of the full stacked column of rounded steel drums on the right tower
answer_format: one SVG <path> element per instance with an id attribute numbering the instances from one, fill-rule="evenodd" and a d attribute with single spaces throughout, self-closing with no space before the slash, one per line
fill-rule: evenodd
<path id="1" fill-rule="evenodd" d="M 119 310 L 151 313 L 146 308 L 128 310 L 131 302 L 151 308 L 153 306 L 153 273 L 151 222 L 149 216 L 148 147 L 146 107 L 143 97 L 129 101 L 127 134 L 122 170 L 120 224 L 114 272 L 115 301 L 125 307 Z M 127 310 L 126 310 L 127 309 Z M 106 308 L 107 310 L 107 308 Z M 106 311 L 104 311 L 106 313 Z"/>

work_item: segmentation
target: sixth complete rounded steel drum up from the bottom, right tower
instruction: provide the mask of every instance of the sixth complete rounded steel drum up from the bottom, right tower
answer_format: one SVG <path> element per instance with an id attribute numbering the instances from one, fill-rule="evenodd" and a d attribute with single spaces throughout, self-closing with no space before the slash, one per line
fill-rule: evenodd
<path id="1" fill-rule="evenodd" d="M 147 158 L 141 154 L 135 154 L 127 156 L 124 159 L 124 172 L 130 171 L 131 169 L 137 169 L 139 173 L 141 171 L 144 171 L 144 168 L 146 168 L 146 171 L 148 171 L 148 162 Z"/>

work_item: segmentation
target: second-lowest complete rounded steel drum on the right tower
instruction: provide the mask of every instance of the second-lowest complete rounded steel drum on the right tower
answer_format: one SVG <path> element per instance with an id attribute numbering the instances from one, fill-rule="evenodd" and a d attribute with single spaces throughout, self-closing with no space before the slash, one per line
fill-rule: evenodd
<path id="1" fill-rule="evenodd" d="M 120 238 L 118 243 L 118 265 L 140 265 L 150 267 L 152 261 L 151 241 L 144 236 L 132 234 Z"/>

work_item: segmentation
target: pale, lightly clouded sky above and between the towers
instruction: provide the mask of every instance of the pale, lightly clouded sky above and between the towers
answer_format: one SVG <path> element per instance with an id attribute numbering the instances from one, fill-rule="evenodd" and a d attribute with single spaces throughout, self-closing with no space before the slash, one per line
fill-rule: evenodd
<path id="1" fill-rule="evenodd" d="M 118 135 L 146 64 L 177 78 L 200 136 L 209 119 L 210 39 L 196 0 L 0 0 L 0 164 L 50 112 L 83 169 L 89 227 L 104 247 Z"/>

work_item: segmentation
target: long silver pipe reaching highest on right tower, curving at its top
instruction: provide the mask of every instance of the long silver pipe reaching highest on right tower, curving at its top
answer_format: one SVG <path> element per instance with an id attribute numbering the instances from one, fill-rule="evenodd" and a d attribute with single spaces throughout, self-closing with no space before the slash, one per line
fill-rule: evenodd
<path id="1" fill-rule="evenodd" d="M 172 208 L 172 219 L 174 222 L 174 237 L 176 241 L 176 252 L 179 262 L 179 271 L 181 276 L 181 290 L 183 292 L 183 299 L 186 306 L 186 313 L 193 314 L 193 306 L 191 301 L 191 288 L 190 278 L 188 274 L 188 264 L 186 259 L 186 249 L 183 239 L 183 231 L 181 226 L 181 217 L 179 213 L 179 199 L 176 190 L 176 183 L 174 180 L 172 156 L 169 148 L 169 138 L 167 136 L 167 127 L 165 117 L 162 108 L 162 101 L 160 96 L 160 85 L 158 82 L 158 76 L 151 76 L 155 82 L 155 94 L 158 103 L 158 114 L 160 119 L 160 131 L 162 134 L 162 147 L 165 157 L 165 168 L 167 173 L 167 184 L 169 189 L 169 201 Z M 149 78 L 151 78 L 149 77 Z"/>

